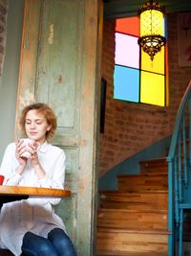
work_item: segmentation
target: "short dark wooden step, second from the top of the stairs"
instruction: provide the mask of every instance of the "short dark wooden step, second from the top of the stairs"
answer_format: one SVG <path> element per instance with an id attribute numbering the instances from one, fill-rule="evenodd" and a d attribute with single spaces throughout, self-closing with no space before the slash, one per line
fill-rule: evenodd
<path id="1" fill-rule="evenodd" d="M 119 175 L 118 191 L 144 191 L 168 189 L 168 178 L 166 175 Z"/>

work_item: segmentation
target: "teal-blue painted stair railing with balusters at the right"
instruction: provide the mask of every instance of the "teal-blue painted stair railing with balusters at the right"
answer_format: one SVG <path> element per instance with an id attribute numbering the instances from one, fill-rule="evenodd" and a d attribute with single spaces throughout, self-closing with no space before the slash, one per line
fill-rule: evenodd
<path id="1" fill-rule="evenodd" d="M 191 209 L 191 81 L 181 100 L 168 161 L 168 256 L 182 256 L 184 211 Z M 189 196 L 190 195 L 190 196 Z"/>

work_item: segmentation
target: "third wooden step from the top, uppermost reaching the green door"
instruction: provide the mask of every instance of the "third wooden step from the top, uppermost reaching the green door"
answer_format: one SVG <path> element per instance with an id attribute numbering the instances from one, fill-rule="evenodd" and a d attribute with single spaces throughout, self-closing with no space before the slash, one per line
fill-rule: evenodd
<path id="1" fill-rule="evenodd" d="M 115 209 L 167 209 L 167 191 L 125 193 L 102 191 L 99 193 L 99 207 Z"/>

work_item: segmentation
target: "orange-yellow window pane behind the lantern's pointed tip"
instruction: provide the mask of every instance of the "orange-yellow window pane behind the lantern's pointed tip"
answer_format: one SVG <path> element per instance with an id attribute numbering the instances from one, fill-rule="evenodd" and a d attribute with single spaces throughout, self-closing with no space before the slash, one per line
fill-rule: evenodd
<path id="1" fill-rule="evenodd" d="M 150 56 L 141 50 L 141 70 L 146 70 L 150 72 L 155 72 L 164 75 L 164 46 L 161 47 L 161 51 L 157 53 L 153 59 L 151 60 Z"/>

